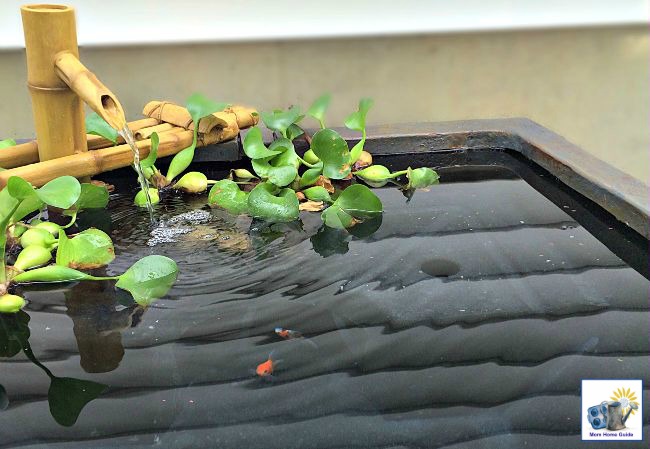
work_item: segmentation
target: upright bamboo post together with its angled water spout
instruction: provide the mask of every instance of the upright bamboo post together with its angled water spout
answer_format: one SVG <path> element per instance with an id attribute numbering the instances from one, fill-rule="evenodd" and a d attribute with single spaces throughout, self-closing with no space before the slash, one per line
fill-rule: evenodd
<path id="1" fill-rule="evenodd" d="M 74 9 L 27 5 L 20 11 L 39 160 L 87 151 L 82 100 L 121 129 L 119 101 L 79 62 Z"/>

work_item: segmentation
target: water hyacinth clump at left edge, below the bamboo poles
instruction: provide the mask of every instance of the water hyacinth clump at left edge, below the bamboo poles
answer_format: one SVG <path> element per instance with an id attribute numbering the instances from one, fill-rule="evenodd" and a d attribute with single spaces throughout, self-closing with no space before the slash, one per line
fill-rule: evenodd
<path id="1" fill-rule="evenodd" d="M 116 280 L 115 285 L 130 292 L 141 305 L 167 293 L 178 268 L 164 256 L 144 257 L 118 276 L 86 273 L 113 261 L 113 242 L 99 229 L 89 228 L 73 236 L 66 230 L 81 211 L 104 208 L 108 198 L 105 186 L 81 184 L 71 176 L 56 178 L 39 189 L 20 177 L 9 178 L 0 191 L 0 313 L 16 313 L 25 305 L 22 297 L 10 293 L 19 284 Z M 47 206 L 62 210 L 70 222 L 61 226 L 33 217 L 36 213 L 40 216 Z M 7 264 L 8 246 L 20 248 L 13 266 Z"/>

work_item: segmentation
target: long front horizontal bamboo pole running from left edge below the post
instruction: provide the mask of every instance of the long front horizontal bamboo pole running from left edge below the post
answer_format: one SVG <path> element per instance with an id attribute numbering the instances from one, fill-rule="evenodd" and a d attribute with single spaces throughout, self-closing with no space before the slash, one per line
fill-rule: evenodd
<path id="1" fill-rule="evenodd" d="M 237 136 L 239 128 L 215 128 L 208 134 L 199 134 L 197 146 L 231 140 Z M 158 157 L 170 156 L 189 147 L 194 138 L 193 131 L 174 127 L 160 134 Z M 151 150 L 151 139 L 136 142 L 140 157 L 145 158 Z M 75 177 L 94 176 L 100 173 L 127 167 L 133 163 L 133 152 L 128 145 L 117 145 L 85 153 L 73 154 L 57 159 L 24 165 L 0 172 L 0 189 L 7 185 L 12 176 L 20 176 L 39 187 L 63 175 Z"/>

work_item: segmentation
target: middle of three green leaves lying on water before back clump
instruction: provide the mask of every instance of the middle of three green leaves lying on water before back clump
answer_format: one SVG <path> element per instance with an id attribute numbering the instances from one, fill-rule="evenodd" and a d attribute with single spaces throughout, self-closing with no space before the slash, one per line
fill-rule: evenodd
<path id="1" fill-rule="evenodd" d="M 256 218 L 292 221 L 299 215 L 298 198 L 291 189 L 280 190 L 271 183 L 263 182 L 248 195 L 248 210 Z"/>

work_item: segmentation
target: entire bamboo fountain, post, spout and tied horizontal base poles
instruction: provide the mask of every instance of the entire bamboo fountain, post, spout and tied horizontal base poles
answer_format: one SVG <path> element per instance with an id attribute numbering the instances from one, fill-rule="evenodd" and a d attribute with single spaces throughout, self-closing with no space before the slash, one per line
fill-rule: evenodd
<path id="1" fill-rule="evenodd" d="M 11 176 L 41 186 L 63 175 L 78 178 L 129 166 L 129 145 L 87 135 L 83 103 L 109 125 L 126 123 L 117 97 L 79 61 L 74 9 L 63 5 L 27 5 L 21 8 L 27 54 L 27 85 L 32 99 L 36 140 L 0 151 L 0 188 Z M 147 118 L 129 122 L 141 157 L 151 148 L 151 133 L 160 136 L 158 157 L 178 153 L 192 143 L 189 112 L 169 102 L 145 105 Z M 199 123 L 197 146 L 235 138 L 239 130 L 257 123 L 254 109 L 232 106 Z"/>

